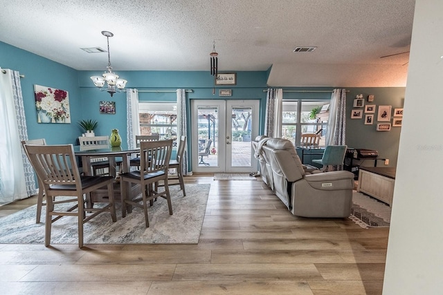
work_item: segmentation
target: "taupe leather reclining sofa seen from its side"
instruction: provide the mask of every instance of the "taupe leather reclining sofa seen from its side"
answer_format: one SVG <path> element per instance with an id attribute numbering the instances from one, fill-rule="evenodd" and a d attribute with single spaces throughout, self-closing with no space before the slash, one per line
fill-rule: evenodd
<path id="1" fill-rule="evenodd" d="M 272 179 L 271 189 L 293 215 L 315 218 L 350 216 L 353 173 L 307 174 L 292 142 L 282 138 L 266 140 L 261 149 L 265 166 L 271 168 L 271 175 L 266 176 Z"/>

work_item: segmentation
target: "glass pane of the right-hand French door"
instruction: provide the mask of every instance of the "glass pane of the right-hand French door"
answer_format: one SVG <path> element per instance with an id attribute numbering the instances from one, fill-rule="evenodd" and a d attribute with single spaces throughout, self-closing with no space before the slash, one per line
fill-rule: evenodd
<path id="1" fill-rule="evenodd" d="M 231 166 L 251 166 L 252 107 L 233 107 L 231 113 Z M 229 142 L 230 140 L 228 140 Z M 228 143 L 226 142 L 226 144 Z"/>

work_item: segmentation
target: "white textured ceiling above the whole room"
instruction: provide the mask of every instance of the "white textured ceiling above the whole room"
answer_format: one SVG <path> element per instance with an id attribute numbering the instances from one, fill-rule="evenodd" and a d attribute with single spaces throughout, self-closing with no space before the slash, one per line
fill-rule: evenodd
<path id="1" fill-rule="evenodd" d="M 268 70 L 269 86 L 406 86 L 415 0 L 0 0 L 0 41 L 76 70 Z M 317 46 L 293 53 L 297 46 Z M 1 54 L 1 53 L 0 53 Z M 1 65 L 0 65 L 1 66 Z"/>

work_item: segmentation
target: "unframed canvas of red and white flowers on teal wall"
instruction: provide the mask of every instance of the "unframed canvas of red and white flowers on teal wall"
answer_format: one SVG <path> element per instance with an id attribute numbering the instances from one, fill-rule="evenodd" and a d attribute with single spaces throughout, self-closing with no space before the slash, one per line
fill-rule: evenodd
<path id="1" fill-rule="evenodd" d="M 38 123 L 71 123 L 68 91 L 35 84 L 34 95 Z"/>

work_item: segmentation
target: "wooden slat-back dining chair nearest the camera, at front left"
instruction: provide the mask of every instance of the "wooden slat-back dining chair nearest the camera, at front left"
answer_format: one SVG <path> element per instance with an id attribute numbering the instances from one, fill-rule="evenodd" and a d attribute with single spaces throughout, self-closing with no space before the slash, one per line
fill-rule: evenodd
<path id="1" fill-rule="evenodd" d="M 46 220 L 44 245 L 51 244 L 53 222 L 62 216 L 76 216 L 78 219 L 78 247 L 83 247 L 83 225 L 100 213 L 110 212 L 116 222 L 114 203 L 114 178 L 112 176 L 80 175 L 72 144 L 35 145 L 24 144 L 26 154 L 33 165 L 37 176 L 44 185 L 46 193 Z M 109 199 L 98 208 L 85 208 L 85 198 L 100 187 L 107 187 Z M 74 202 L 73 207 L 66 209 L 60 204 L 55 206 L 53 198 L 57 196 L 75 197 L 64 200 Z M 56 216 L 53 218 L 53 216 Z"/>

